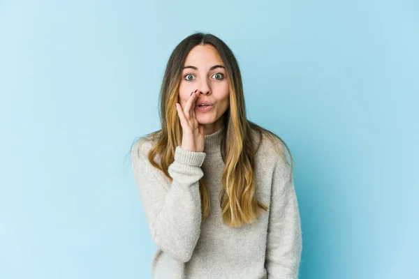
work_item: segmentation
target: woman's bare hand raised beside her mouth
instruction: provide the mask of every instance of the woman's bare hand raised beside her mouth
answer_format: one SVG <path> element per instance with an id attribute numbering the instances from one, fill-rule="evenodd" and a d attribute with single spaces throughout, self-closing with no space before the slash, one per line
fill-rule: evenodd
<path id="1" fill-rule="evenodd" d="M 198 123 L 198 119 L 196 119 L 195 107 L 198 98 L 196 91 L 191 93 L 183 109 L 179 103 L 175 105 L 183 131 L 182 146 L 180 147 L 193 152 L 203 152 L 204 126 Z"/>

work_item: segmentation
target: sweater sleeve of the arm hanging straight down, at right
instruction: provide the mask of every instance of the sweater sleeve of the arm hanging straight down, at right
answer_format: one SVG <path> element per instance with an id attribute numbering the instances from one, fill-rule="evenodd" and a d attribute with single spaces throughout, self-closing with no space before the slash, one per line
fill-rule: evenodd
<path id="1" fill-rule="evenodd" d="M 302 232 L 289 163 L 279 160 L 272 177 L 265 268 L 269 279 L 297 279 Z"/>

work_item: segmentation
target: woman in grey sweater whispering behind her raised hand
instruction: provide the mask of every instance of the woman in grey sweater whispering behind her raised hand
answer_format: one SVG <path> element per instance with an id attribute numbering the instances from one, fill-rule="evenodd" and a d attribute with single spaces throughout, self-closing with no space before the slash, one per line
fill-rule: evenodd
<path id="1" fill-rule="evenodd" d="M 161 130 L 131 149 L 158 246 L 153 278 L 297 278 L 293 157 L 280 137 L 247 119 L 240 69 L 226 43 L 208 33 L 182 40 L 160 102 Z"/>

